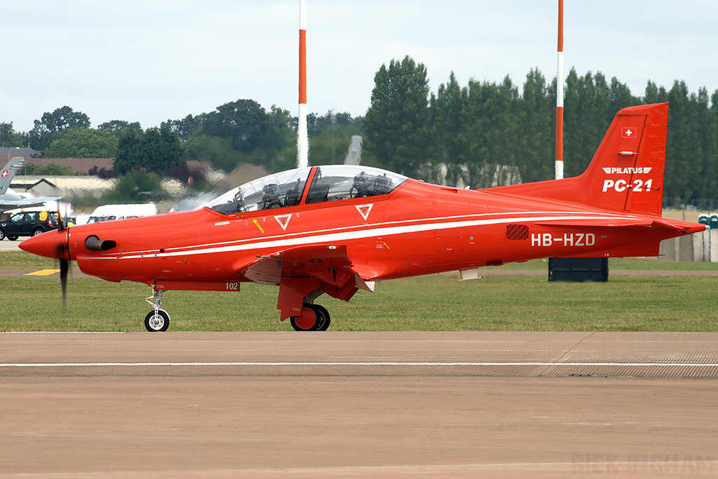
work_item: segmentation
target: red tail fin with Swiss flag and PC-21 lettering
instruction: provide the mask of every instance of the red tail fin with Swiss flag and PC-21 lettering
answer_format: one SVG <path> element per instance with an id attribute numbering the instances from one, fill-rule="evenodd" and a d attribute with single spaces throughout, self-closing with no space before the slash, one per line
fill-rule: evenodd
<path id="1" fill-rule="evenodd" d="M 667 123 L 668 103 L 623 108 L 582 175 L 486 191 L 660 216 Z"/>

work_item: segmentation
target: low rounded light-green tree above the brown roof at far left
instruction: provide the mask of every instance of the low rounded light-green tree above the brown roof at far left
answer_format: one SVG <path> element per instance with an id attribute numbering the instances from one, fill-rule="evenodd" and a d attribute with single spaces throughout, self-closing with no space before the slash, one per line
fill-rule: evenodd
<path id="1" fill-rule="evenodd" d="M 49 158 L 114 158 L 118 138 L 109 131 L 67 128 L 45 150 Z"/>

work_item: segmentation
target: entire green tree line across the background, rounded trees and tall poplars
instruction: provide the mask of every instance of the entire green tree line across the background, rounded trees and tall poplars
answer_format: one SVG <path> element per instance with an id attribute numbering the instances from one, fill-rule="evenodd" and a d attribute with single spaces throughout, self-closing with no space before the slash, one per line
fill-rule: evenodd
<path id="1" fill-rule="evenodd" d="M 519 88 L 508 75 L 460 85 L 452 73 L 434 93 L 426 67 L 407 56 L 381 65 L 374 81 L 365 116 L 309 115 L 310 164 L 341 163 L 358 134 L 363 164 L 421 180 L 479 188 L 554 176 L 556 78 L 532 69 Z M 691 93 L 678 80 L 670 89 L 649 80 L 643 96 L 633 96 L 615 77 L 572 69 L 564 85 L 564 176 L 586 169 L 617 111 L 664 101 L 664 200 L 718 198 L 718 90 Z M 27 133 L 1 126 L 3 146 L 29 146 L 45 157 L 113 157 L 122 175 L 143 168 L 186 178 L 188 159 L 227 172 L 243 163 L 277 172 L 294 167 L 297 155 L 297 117 L 249 99 L 146 130 L 120 120 L 91 129 L 88 116 L 67 106 L 45 113 Z"/>

